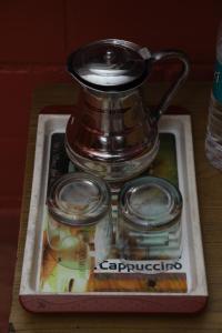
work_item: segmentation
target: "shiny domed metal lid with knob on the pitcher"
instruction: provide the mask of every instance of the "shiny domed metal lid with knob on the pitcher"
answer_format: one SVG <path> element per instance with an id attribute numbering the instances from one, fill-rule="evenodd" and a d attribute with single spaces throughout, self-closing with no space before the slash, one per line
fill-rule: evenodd
<path id="1" fill-rule="evenodd" d="M 71 53 L 68 71 L 82 84 L 99 91 L 124 91 L 140 85 L 148 75 L 151 53 L 135 43 L 107 39 Z"/>

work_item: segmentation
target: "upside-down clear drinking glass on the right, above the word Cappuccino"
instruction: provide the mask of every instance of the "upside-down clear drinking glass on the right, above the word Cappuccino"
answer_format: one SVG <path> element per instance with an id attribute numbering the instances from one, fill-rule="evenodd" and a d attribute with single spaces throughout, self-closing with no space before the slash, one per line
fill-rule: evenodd
<path id="1" fill-rule="evenodd" d="M 117 228 L 121 259 L 179 259 L 181 210 L 181 193 L 165 179 L 143 176 L 125 183 Z"/>

